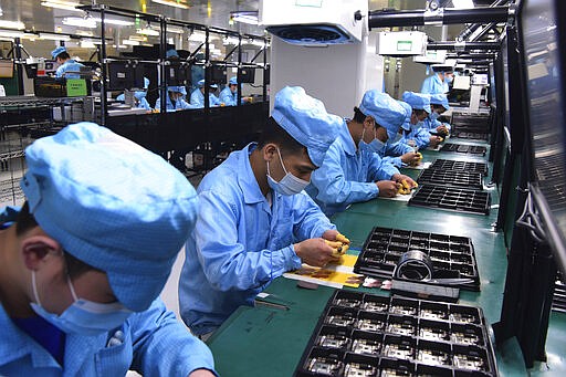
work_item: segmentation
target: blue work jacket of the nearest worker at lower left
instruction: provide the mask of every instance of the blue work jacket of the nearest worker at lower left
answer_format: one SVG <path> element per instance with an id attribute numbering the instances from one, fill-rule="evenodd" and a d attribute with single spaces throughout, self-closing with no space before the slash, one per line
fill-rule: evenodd
<path id="1" fill-rule="evenodd" d="M 4 208 L 0 212 L 2 228 L 13 223 L 18 213 L 19 208 Z M 167 311 L 160 299 L 109 333 L 85 336 L 61 332 L 63 366 L 10 318 L 1 303 L 0 328 L 0 376 L 125 376 L 134 369 L 146 376 L 185 377 L 196 369 L 214 368 L 210 349 Z M 36 331 L 33 335 L 40 336 Z"/>

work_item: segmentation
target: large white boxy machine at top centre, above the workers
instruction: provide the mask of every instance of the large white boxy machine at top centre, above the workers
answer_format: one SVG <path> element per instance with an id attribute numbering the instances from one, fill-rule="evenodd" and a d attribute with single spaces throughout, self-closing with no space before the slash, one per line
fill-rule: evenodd
<path id="1" fill-rule="evenodd" d="M 260 1 L 260 23 L 275 35 L 270 92 L 303 86 L 329 113 L 352 116 L 365 91 L 382 88 L 382 57 L 367 13 L 367 0 Z"/>

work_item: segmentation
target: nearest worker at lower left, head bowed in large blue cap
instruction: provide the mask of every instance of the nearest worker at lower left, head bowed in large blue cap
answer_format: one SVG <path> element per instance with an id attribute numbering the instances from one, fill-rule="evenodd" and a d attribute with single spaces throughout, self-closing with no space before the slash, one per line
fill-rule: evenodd
<path id="1" fill-rule="evenodd" d="M 197 218 L 161 157 L 93 123 L 25 149 L 25 202 L 0 230 L 0 375 L 213 376 L 157 299 Z"/>

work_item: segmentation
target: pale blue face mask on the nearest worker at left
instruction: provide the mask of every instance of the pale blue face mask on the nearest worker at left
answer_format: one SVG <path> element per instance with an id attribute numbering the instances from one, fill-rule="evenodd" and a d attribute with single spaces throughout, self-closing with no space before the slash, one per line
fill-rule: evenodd
<path id="1" fill-rule="evenodd" d="M 59 327 L 66 334 L 78 334 L 86 336 L 107 333 L 122 324 L 132 314 L 120 303 L 99 304 L 84 299 L 78 299 L 75 294 L 73 283 L 67 277 L 69 289 L 73 295 L 73 304 L 69 306 L 61 315 L 50 313 L 41 306 L 38 287 L 35 284 L 35 271 L 31 273 L 33 285 L 34 303 L 31 308 L 45 321 Z"/>

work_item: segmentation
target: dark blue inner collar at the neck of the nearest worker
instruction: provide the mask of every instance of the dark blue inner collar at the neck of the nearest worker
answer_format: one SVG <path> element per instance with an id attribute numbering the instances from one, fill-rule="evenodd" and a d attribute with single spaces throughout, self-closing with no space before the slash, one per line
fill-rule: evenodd
<path id="1" fill-rule="evenodd" d="M 1 304 L 0 324 L 2 326 L 2 336 L 4 339 L 9 339 L 8 342 L 0 342 L 0 366 L 20 359 L 25 355 L 31 355 L 35 367 L 61 369 L 61 366 L 46 349 L 43 349 L 28 334 L 15 326 Z"/>

